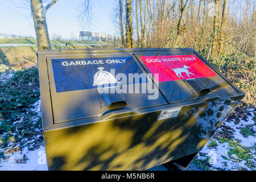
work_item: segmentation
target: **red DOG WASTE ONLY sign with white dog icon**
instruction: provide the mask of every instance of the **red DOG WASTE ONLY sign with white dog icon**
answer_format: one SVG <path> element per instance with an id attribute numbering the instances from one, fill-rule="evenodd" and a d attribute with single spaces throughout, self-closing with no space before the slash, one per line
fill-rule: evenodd
<path id="1" fill-rule="evenodd" d="M 141 56 L 146 67 L 159 82 L 217 76 L 195 55 Z"/>

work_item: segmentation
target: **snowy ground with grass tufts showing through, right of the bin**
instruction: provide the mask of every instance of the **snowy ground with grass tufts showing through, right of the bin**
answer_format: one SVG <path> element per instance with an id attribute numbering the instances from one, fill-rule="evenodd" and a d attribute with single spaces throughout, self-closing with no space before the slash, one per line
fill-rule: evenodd
<path id="1" fill-rule="evenodd" d="M 197 159 L 208 163 L 212 170 L 255 170 L 256 169 L 256 135 L 255 135 L 255 110 L 248 110 L 247 119 L 239 119 L 238 123 L 234 119 L 225 121 L 217 130 L 228 126 L 233 131 L 233 138 L 221 140 L 212 138 L 205 145 L 203 150 L 197 155 Z M 253 129 L 253 136 L 241 134 L 242 128 Z M 238 156 L 237 156 L 238 155 Z"/>

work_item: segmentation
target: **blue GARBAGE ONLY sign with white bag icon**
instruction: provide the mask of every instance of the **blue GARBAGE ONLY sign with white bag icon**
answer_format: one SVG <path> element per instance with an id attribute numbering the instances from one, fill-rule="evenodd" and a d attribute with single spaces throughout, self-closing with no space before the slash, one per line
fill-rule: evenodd
<path id="1" fill-rule="evenodd" d="M 52 59 L 51 61 L 57 93 L 94 89 L 106 84 L 128 85 L 147 82 L 146 76 L 133 57 Z M 138 73 L 139 79 L 134 78 L 136 76 L 134 73 Z M 123 76 L 127 79 L 124 80 Z"/>

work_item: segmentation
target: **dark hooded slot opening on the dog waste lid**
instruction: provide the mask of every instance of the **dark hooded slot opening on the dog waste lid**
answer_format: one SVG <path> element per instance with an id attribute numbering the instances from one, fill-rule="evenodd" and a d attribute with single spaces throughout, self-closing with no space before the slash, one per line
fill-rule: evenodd
<path id="1" fill-rule="evenodd" d="M 185 82 L 196 96 L 205 96 L 212 92 L 212 90 L 200 79 L 185 80 Z"/>

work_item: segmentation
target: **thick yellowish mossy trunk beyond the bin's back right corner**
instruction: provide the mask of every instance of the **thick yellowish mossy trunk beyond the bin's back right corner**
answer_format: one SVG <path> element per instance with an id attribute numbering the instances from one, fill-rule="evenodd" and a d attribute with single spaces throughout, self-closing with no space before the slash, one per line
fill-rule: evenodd
<path id="1" fill-rule="evenodd" d="M 213 41 L 212 41 L 212 53 L 218 52 L 218 32 L 220 31 L 220 0 L 215 0 L 215 15 L 213 20 Z"/>

